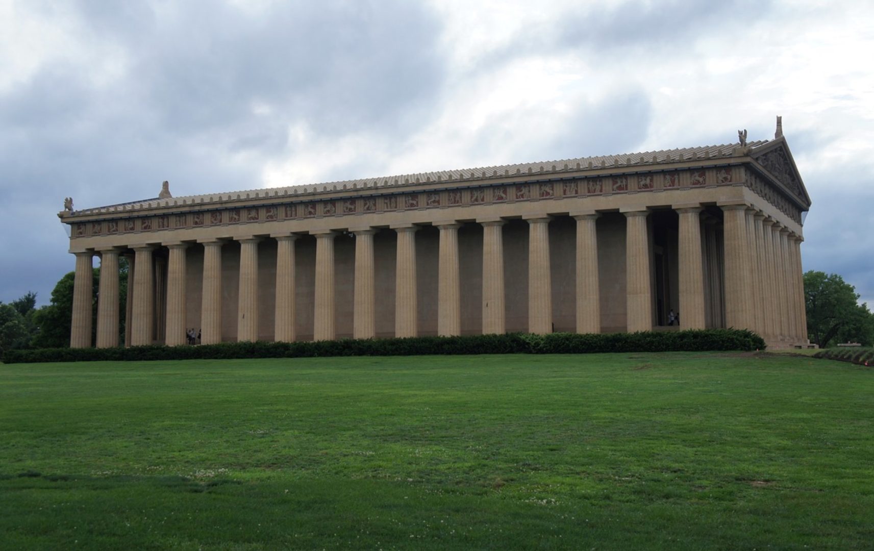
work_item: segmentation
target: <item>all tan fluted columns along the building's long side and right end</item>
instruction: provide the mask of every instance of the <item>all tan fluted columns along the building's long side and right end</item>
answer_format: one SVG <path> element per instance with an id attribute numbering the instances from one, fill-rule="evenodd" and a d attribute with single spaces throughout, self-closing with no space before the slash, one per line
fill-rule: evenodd
<path id="1" fill-rule="evenodd" d="M 705 326 L 704 260 L 699 205 L 676 206 L 679 216 L 679 311 L 681 327 Z M 725 211 L 725 316 L 728 326 L 745 327 L 766 337 L 806 338 L 801 289 L 800 239 L 785 227 L 746 205 L 724 206 Z M 650 247 L 647 210 L 628 211 L 626 232 L 626 288 L 628 331 L 648 331 L 653 324 Z M 600 332 L 600 275 L 598 268 L 597 213 L 578 213 L 576 222 L 576 330 Z M 526 217 L 529 224 L 528 318 L 529 331 L 552 329 L 550 217 Z M 503 224 L 496 219 L 477 220 L 483 227 L 482 332 L 503 333 L 506 328 L 504 297 Z M 434 224 L 440 230 L 438 332 L 461 333 L 461 281 L 458 229 L 455 220 Z M 392 227 L 397 233 L 395 335 L 417 334 L 416 247 L 413 224 Z M 352 230 L 356 238 L 353 336 L 375 336 L 375 228 Z M 314 338 L 336 338 L 335 262 L 336 232 L 315 233 L 316 282 Z M 280 341 L 295 340 L 295 240 L 294 234 L 274 235 L 276 255 L 275 333 Z M 258 338 L 258 242 L 240 242 L 238 340 Z M 201 309 L 201 342 L 221 342 L 221 249 L 225 241 L 204 240 Z M 170 249 L 167 271 L 166 311 L 156 313 L 152 252 L 154 246 L 134 248 L 130 259 L 132 284 L 128 286 L 128 343 L 152 343 L 155 316 L 163 314 L 167 345 L 185 343 L 184 242 L 166 244 Z M 101 249 L 101 271 L 118 273 L 118 250 Z M 91 257 L 77 254 L 73 295 L 71 345 L 90 345 Z M 782 292 L 790 289 L 790 292 Z M 801 301 L 799 301 L 801 296 Z M 101 277 L 97 345 L 118 345 L 118 278 Z"/>

